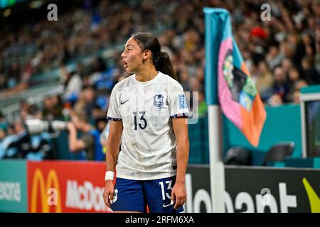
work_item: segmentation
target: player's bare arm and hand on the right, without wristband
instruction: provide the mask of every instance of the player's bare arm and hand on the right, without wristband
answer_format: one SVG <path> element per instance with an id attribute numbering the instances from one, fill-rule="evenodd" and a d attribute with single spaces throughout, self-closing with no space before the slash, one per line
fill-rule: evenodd
<path id="1" fill-rule="evenodd" d="M 171 201 L 175 201 L 174 209 L 178 209 L 186 201 L 186 168 L 189 157 L 188 118 L 173 118 L 176 135 L 176 184 L 171 193 Z"/>

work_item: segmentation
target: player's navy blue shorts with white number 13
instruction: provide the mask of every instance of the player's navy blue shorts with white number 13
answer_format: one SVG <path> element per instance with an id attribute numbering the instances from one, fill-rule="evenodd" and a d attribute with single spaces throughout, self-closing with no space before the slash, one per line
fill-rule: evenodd
<path id="1" fill-rule="evenodd" d="M 171 205 L 171 190 L 176 176 L 163 179 L 134 180 L 117 178 L 114 186 L 113 211 L 146 212 L 146 205 L 152 213 L 181 213 Z"/>

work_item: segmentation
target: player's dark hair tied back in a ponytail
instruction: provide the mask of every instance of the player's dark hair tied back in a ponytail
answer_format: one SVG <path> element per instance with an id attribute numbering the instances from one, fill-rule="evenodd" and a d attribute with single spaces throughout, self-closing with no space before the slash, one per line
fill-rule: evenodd
<path id="1" fill-rule="evenodd" d="M 161 51 L 161 45 L 155 35 L 151 33 L 134 33 L 131 37 L 137 41 L 142 50 L 151 51 L 152 62 L 157 71 L 163 72 L 177 80 L 170 57 L 167 52 Z"/>

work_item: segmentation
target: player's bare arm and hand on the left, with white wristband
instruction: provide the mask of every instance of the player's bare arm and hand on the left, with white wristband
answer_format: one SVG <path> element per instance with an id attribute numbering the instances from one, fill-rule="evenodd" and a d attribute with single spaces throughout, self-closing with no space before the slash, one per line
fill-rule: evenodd
<path id="1" fill-rule="evenodd" d="M 106 165 L 107 171 L 114 172 L 119 155 L 120 140 L 122 136 L 122 121 L 111 121 L 110 131 L 107 140 Z M 107 206 L 111 206 L 110 201 L 113 201 L 114 185 L 113 181 L 107 179 L 105 181 L 105 191 L 103 192 L 103 199 Z"/>

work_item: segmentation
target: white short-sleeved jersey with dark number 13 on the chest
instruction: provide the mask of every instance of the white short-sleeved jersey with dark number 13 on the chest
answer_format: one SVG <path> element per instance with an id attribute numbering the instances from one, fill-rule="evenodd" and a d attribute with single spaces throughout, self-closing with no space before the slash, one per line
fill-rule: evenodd
<path id="1" fill-rule="evenodd" d="M 160 179 L 176 175 L 176 137 L 172 118 L 187 117 L 183 88 L 159 72 L 148 82 L 135 74 L 112 89 L 107 118 L 122 121 L 117 177 Z"/>

